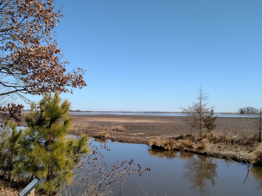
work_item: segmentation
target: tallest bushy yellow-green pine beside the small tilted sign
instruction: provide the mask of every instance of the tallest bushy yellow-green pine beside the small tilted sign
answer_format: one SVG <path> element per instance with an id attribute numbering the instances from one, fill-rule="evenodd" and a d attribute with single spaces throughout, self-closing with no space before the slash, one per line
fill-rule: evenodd
<path id="1" fill-rule="evenodd" d="M 24 171 L 44 180 L 40 189 L 47 195 L 55 195 L 64 184 L 70 184 L 76 163 L 90 151 L 88 136 L 68 137 L 72 125 L 68 118 L 70 106 L 58 93 L 45 94 L 39 109 L 31 105 L 31 112 L 25 117 L 29 126 L 25 134 L 31 145 L 26 152 Z"/>

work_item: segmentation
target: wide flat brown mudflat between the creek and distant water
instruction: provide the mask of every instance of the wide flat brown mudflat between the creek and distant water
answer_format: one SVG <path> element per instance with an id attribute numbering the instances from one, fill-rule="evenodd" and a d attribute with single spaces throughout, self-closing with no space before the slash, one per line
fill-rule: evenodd
<path id="1" fill-rule="evenodd" d="M 195 134 L 187 124 L 185 116 L 139 116 L 139 115 L 70 115 L 74 123 L 85 123 L 93 127 L 110 127 L 121 125 L 126 132 L 110 132 L 111 138 L 127 143 L 148 143 L 152 137 L 173 137 L 182 134 Z M 217 117 L 217 128 L 214 132 L 231 134 L 253 134 L 258 129 L 254 126 L 255 118 Z M 84 130 L 82 130 L 84 129 Z M 107 129 L 107 130 L 108 130 Z M 110 130 L 108 130 L 110 131 Z M 72 130 L 72 134 L 86 133 L 89 136 L 95 135 L 98 130 L 85 127 Z"/>

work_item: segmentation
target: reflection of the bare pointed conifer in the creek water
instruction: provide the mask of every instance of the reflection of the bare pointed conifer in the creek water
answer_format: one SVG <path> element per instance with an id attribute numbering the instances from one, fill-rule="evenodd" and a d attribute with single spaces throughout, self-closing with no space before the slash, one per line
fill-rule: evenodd
<path id="1" fill-rule="evenodd" d="M 216 167 L 212 163 L 213 158 L 204 156 L 192 156 L 185 165 L 185 178 L 193 184 L 192 189 L 199 189 L 201 195 L 208 194 L 206 186 L 208 181 L 215 185 Z"/>

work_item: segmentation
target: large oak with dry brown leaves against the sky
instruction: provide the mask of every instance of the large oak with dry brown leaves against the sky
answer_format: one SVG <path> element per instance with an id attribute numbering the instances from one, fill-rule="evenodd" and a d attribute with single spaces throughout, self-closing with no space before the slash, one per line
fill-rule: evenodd
<path id="1" fill-rule="evenodd" d="M 0 0 L 0 99 L 86 86 L 85 70 L 68 72 L 54 39 L 61 17 L 53 0 Z"/>

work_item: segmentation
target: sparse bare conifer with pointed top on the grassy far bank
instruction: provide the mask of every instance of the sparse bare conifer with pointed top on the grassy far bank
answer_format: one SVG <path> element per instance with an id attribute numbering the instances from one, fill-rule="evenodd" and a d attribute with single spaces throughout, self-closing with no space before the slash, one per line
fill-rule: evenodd
<path id="1" fill-rule="evenodd" d="M 197 129 L 199 131 L 200 137 L 202 137 L 202 133 L 204 131 L 208 131 L 212 137 L 212 130 L 216 128 L 216 117 L 214 117 L 213 106 L 211 108 L 207 107 L 208 96 L 203 92 L 202 86 L 198 89 L 199 96 L 197 97 L 197 102 L 193 102 L 192 106 L 188 106 L 188 108 L 181 108 L 183 112 L 188 115 L 188 124 L 191 128 Z"/>

